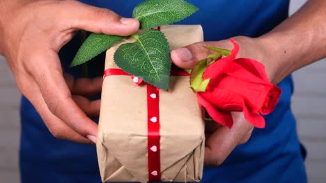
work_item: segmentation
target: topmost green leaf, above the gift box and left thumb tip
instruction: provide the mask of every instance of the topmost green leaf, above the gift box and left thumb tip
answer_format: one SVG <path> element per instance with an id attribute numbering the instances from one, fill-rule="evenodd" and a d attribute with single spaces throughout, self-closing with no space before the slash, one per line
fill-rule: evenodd
<path id="1" fill-rule="evenodd" d="M 134 8 L 133 17 L 139 19 L 141 29 L 146 29 L 181 21 L 197 10 L 183 0 L 147 0 Z"/>

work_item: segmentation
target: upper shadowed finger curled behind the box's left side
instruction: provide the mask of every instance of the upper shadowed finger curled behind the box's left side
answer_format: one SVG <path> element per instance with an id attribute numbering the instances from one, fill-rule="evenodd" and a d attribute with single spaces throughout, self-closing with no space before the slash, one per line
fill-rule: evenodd
<path id="1" fill-rule="evenodd" d="M 65 82 L 72 93 L 72 95 L 81 95 L 81 96 L 94 96 L 100 94 L 102 91 L 102 77 L 98 78 L 78 78 L 75 79 L 72 75 L 65 73 L 64 75 Z"/>

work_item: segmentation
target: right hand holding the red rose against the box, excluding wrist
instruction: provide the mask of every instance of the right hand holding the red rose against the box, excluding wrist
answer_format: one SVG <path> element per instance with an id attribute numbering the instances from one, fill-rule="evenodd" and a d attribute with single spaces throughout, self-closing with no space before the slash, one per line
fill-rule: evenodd
<path id="1" fill-rule="evenodd" d="M 238 58 L 251 58 L 261 62 L 270 62 L 272 57 L 268 56 L 261 42 L 257 39 L 249 37 L 235 37 L 235 42 L 240 44 L 240 53 Z M 172 51 L 171 59 L 181 68 L 192 68 L 200 60 L 205 59 L 212 54 L 211 51 L 205 49 L 204 46 L 215 46 L 223 49 L 233 49 L 229 40 L 219 42 L 199 42 Z M 270 69 L 267 75 L 270 75 Z M 272 77 L 272 76 L 270 76 Z M 233 149 L 243 143 L 246 143 L 254 126 L 251 125 L 242 112 L 232 112 L 233 127 L 231 129 L 219 125 L 215 121 L 208 121 L 205 125 L 206 143 L 205 143 L 205 165 L 219 166 L 224 162 L 226 157 L 230 155 Z"/>

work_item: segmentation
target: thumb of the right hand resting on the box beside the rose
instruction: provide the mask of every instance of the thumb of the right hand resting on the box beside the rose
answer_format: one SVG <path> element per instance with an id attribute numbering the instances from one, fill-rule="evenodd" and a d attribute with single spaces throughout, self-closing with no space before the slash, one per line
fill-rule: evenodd
<path id="1" fill-rule="evenodd" d="M 180 49 L 173 50 L 171 52 L 171 60 L 178 67 L 191 69 L 199 61 L 205 59 L 208 55 L 215 53 L 205 49 L 204 46 L 215 46 L 223 49 L 232 49 L 231 42 L 227 40 L 219 42 L 198 42 Z"/>

